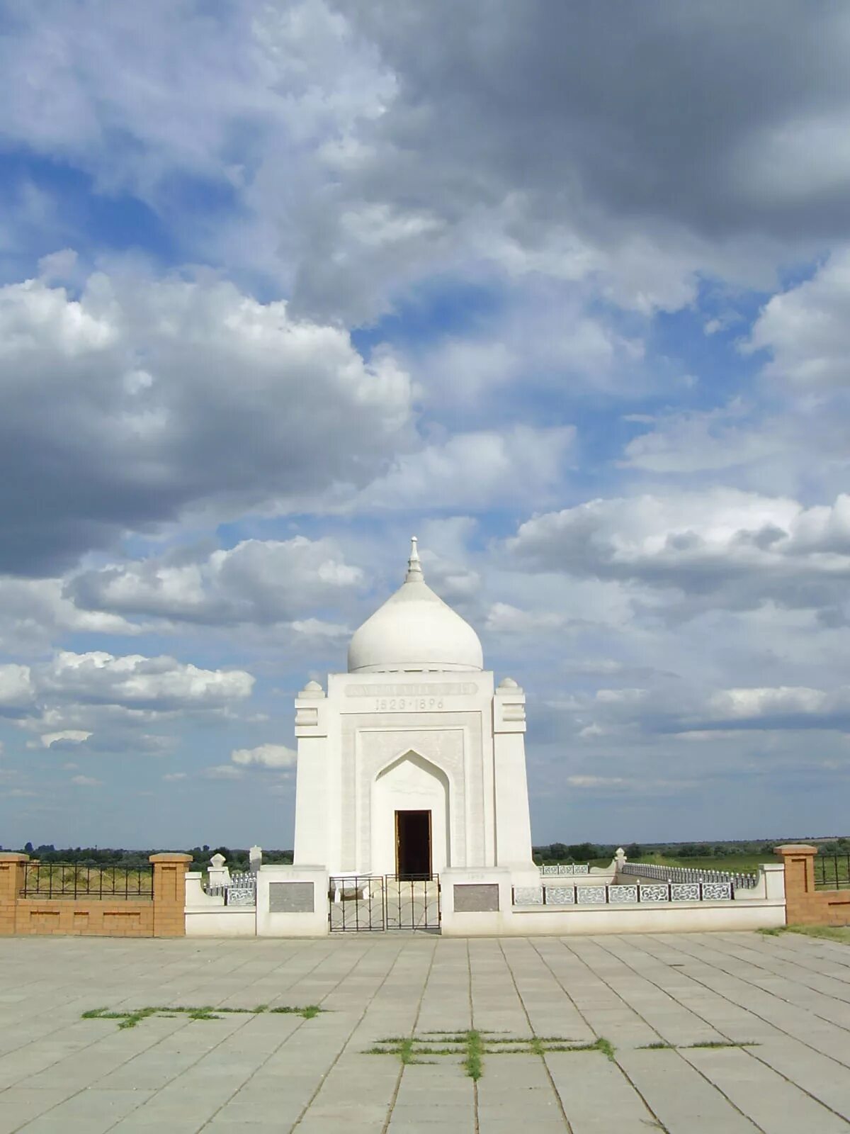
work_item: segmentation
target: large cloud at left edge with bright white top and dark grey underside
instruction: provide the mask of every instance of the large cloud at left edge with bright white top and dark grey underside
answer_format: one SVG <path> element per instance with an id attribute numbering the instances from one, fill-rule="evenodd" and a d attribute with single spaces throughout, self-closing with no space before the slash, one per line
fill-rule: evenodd
<path id="1" fill-rule="evenodd" d="M 363 485 L 410 413 L 391 356 L 367 364 L 345 331 L 209 277 L 0 288 L 0 570 L 18 574 L 190 509 Z"/>

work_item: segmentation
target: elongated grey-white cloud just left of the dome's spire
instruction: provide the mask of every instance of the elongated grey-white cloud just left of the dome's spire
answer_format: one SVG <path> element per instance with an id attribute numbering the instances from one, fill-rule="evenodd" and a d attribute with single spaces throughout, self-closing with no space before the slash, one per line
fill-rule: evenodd
<path id="1" fill-rule="evenodd" d="M 306 612 L 324 604 L 338 609 L 363 579 L 333 540 L 297 535 L 244 540 L 203 557 L 180 548 L 161 558 L 84 572 L 69 581 L 66 593 L 77 606 L 100 611 L 205 625 L 295 621 L 301 633 L 321 634 L 321 623 Z"/>

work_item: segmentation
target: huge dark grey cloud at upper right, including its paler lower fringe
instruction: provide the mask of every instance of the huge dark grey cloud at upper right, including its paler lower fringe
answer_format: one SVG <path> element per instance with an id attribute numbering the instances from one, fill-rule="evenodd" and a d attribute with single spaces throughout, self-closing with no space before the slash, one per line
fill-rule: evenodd
<path id="1" fill-rule="evenodd" d="M 417 269 L 482 260 L 672 310 L 691 302 L 699 269 L 751 280 L 789 246 L 847 230 L 843 150 L 800 160 L 813 120 L 822 138 L 847 121 L 847 90 L 830 77 L 843 11 L 804 19 L 783 3 L 766 22 L 760 6 L 698 3 L 671 20 L 655 2 L 618 9 L 612 34 L 603 8 L 542 0 L 462 15 L 335 7 L 396 88 L 358 125 L 356 160 L 305 209 L 307 310 L 363 318 Z"/>

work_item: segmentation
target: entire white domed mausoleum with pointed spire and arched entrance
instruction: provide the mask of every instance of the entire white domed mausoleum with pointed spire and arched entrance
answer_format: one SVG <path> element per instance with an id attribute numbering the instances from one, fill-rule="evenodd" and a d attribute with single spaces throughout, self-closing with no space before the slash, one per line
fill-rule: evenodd
<path id="1" fill-rule="evenodd" d="M 525 696 L 484 669 L 473 627 L 405 582 L 355 633 L 348 672 L 296 700 L 295 866 L 331 875 L 536 882 Z"/>

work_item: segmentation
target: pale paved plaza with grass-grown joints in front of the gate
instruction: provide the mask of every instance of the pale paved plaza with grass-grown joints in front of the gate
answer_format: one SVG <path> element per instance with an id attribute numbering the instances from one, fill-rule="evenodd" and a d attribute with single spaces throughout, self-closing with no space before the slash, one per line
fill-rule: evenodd
<path id="1" fill-rule="evenodd" d="M 792 933 L 12 938 L 0 972 L 0 1134 L 850 1132 L 850 947 Z"/>

